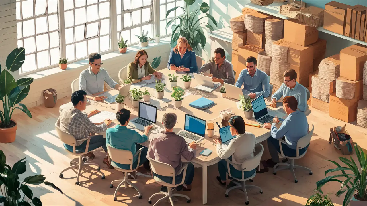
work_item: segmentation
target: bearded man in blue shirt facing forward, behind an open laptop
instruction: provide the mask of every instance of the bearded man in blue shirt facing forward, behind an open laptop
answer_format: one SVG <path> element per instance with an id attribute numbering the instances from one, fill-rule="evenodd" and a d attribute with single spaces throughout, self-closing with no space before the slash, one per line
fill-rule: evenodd
<path id="1" fill-rule="evenodd" d="M 239 88 L 243 85 L 244 90 L 251 92 L 248 96 L 252 99 L 261 94 L 264 95 L 264 97 L 268 97 L 270 94 L 268 75 L 264 71 L 256 69 L 256 66 L 256 58 L 253 56 L 247 57 L 247 69 L 241 71 L 235 84 L 235 86 Z"/>

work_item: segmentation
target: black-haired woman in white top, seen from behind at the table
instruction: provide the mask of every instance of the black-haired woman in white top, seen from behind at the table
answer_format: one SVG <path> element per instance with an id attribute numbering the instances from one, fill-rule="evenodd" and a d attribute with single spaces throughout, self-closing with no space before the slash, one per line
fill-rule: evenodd
<path id="1" fill-rule="evenodd" d="M 218 162 L 219 176 L 217 180 L 220 184 L 226 185 L 226 174 L 228 173 L 227 162 L 225 159 L 229 159 L 233 163 L 239 166 L 229 165 L 230 173 L 232 177 L 242 178 L 241 164 L 246 159 L 254 157 L 254 149 L 256 143 L 256 137 L 252 133 L 246 132 L 245 122 L 240 116 L 233 116 L 228 120 L 230 126 L 230 133 L 236 137 L 230 140 L 228 147 L 223 147 L 220 139 L 214 139 L 214 143 L 217 144 L 218 156 L 222 159 Z M 245 171 L 244 177 L 251 177 L 255 173 L 255 169 L 251 171 Z"/>

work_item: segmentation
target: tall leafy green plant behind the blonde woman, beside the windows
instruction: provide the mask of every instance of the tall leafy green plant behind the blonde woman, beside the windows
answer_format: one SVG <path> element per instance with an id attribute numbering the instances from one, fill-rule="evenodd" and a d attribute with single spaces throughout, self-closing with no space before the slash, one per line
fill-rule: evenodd
<path id="1" fill-rule="evenodd" d="M 212 23 L 214 23 L 215 26 L 217 25 L 217 22 L 215 21 L 214 17 L 210 14 L 206 14 L 209 11 L 209 5 L 207 3 L 202 3 L 200 8 L 192 11 L 189 13 L 189 5 L 192 5 L 195 3 L 195 0 L 185 0 L 185 3 L 187 5 L 187 9 L 183 7 L 174 7 L 167 11 L 166 18 L 168 15 L 172 12 L 179 9 L 182 9 L 183 14 L 181 16 L 177 16 L 176 18 L 171 19 L 167 22 L 166 29 L 176 21 L 176 19 L 179 19 L 179 24 L 173 24 L 172 25 L 172 37 L 171 37 L 171 47 L 173 48 L 175 46 L 175 42 L 178 40 L 180 36 L 186 37 L 189 41 L 190 46 L 195 49 L 201 45 L 202 48 L 204 48 L 206 44 L 206 37 L 203 32 L 203 28 L 201 25 L 205 25 L 210 31 L 214 31 L 214 28 L 207 22 L 200 23 L 199 21 L 203 18 L 208 18 Z M 196 19 L 196 16 L 199 15 L 199 13 L 202 12 L 206 14 L 206 16 L 200 17 Z M 196 19 L 196 20 L 195 20 Z"/>

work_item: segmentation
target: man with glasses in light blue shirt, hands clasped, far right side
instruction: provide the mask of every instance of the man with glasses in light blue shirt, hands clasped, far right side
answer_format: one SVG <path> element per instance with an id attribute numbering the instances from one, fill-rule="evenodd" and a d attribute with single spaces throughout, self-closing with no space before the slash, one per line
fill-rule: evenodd
<path id="1" fill-rule="evenodd" d="M 276 102 L 282 97 L 294 96 L 298 102 L 299 111 L 304 112 L 307 108 L 307 92 L 306 88 L 299 84 L 297 79 L 297 73 L 294 69 L 289 69 L 283 73 L 284 83 L 280 88 L 272 95 L 272 101 L 270 107 L 276 107 Z"/>

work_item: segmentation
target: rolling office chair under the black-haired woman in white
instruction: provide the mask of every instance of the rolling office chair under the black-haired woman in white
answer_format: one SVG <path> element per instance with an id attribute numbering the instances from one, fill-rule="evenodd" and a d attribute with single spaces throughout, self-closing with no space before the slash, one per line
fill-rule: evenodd
<path id="1" fill-rule="evenodd" d="M 242 168 L 243 171 L 251 171 L 255 168 L 257 168 L 258 166 L 260 166 L 260 161 L 261 161 L 261 156 L 262 154 L 264 153 L 264 146 L 262 146 L 262 144 L 257 144 L 255 146 L 255 154 L 254 154 L 254 157 L 251 157 L 250 159 L 247 159 L 245 160 L 241 165 L 237 165 L 235 163 L 233 163 L 232 161 L 230 161 L 229 159 L 225 159 L 226 162 L 227 162 L 227 168 L 228 168 L 228 175 L 230 177 L 231 174 L 230 174 L 230 168 L 229 168 L 229 165 L 237 165 L 237 166 L 240 166 Z M 228 198 L 228 192 L 233 190 L 233 189 L 236 189 L 236 188 L 240 188 L 241 190 L 243 190 L 244 194 L 245 194 L 245 199 L 246 199 L 246 202 L 245 204 L 248 205 L 248 196 L 247 196 L 247 192 L 246 192 L 246 188 L 250 188 L 250 187 L 253 187 L 253 188 L 256 188 L 258 190 L 260 190 L 260 194 L 262 194 L 262 189 L 256 185 L 246 185 L 245 181 L 246 180 L 250 180 L 252 178 L 254 178 L 256 176 L 256 172 L 251 176 L 251 177 L 248 177 L 248 178 L 244 178 L 244 174 L 242 173 L 242 178 L 239 179 L 239 178 L 235 178 L 237 181 L 239 181 L 240 183 L 236 182 L 236 181 L 232 181 L 233 183 L 235 183 L 236 185 L 233 186 L 233 187 L 230 187 L 226 190 L 226 198 Z"/>

